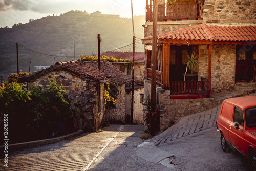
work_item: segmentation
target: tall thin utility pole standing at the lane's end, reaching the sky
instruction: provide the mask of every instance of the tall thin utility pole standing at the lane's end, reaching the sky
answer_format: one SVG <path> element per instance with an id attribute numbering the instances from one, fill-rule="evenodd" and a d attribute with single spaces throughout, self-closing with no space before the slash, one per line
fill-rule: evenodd
<path id="1" fill-rule="evenodd" d="M 132 100 L 131 100 L 131 123 L 133 124 L 133 104 L 134 104 L 134 56 L 135 56 L 135 32 L 133 19 L 133 0 L 131 0 L 132 22 L 133 22 L 133 76 L 132 76 Z"/>

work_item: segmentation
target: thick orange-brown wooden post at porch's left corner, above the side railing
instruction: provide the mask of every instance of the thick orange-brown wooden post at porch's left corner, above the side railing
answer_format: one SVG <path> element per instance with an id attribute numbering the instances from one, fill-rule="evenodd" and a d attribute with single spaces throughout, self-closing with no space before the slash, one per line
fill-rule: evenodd
<path id="1" fill-rule="evenodd" d="M 170 83 L 170 44 L 163 44 L 163 85 Z M 170 86 L 170 85 L 169 85 Z"/>

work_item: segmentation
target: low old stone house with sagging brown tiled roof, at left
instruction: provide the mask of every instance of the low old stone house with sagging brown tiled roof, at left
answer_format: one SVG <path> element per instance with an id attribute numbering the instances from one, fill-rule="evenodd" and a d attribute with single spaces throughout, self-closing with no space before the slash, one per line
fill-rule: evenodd
<path id="1" fill-rule="evenodd" d="M 108 123 L 125 123 L 125 83 L 131 78 L 110 62 L 102 61 L 101 70 L 97 62 L 57 62 L 47 69 L 18 78 L 18 82 L 45 89 L 49 87 L 48 79 L 53 81 L 54 77 L 67 91 L 72 104 L 83 113 L 79 117 L 79 123 L 83 121 L 80 129 L 89 131 Z M 109 82 L 115 83 L 119 90 L 116 109 L 112 110 L 104 108 L 104 85 Z"/>

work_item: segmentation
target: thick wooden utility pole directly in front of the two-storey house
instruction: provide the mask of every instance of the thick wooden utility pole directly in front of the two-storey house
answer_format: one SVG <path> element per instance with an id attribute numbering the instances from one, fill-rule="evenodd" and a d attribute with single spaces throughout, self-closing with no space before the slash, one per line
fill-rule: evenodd
<path id="1" fill-rule="evenodd" d="M 151 103 L 152 108 L 156 108 L 156 68 L 157 68 L 157 14 L 158 0 L 153 2 L 153 33 L 152 33 L 152 78 L 151 78 Z"/>

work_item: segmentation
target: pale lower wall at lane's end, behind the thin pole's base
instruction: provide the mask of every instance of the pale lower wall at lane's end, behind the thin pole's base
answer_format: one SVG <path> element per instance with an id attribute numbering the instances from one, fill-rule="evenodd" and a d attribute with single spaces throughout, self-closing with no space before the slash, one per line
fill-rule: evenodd
<path id="1" fill-rule="evenodd" d="M 133 123 L 138 125 L 144 124 L 144 117 L 143 117 L 144 106 L 142 105 L 143 102 L 140 102 L 141 94 L 144 95 L 143 86 L 134 89 Z M 126 90 L 126 94 L 125 94 L 126 122 L 128 122 L 128 120 L 131 120 L 131 101 L 132 101 L 132 92 L 131 90 Z"/>

